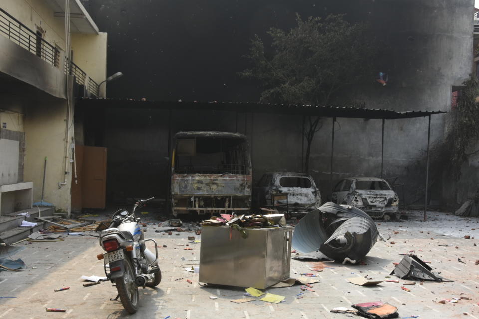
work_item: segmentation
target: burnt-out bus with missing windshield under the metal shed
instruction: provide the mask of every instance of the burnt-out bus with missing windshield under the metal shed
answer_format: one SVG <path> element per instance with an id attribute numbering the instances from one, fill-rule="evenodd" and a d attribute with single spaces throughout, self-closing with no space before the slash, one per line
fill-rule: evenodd
<path id="1" fill-rule="evenodd" d="M 171 156 L 174 216 L 243 214 L 251 205 L 248 139 L 230 132 L 178 132 Z"/>

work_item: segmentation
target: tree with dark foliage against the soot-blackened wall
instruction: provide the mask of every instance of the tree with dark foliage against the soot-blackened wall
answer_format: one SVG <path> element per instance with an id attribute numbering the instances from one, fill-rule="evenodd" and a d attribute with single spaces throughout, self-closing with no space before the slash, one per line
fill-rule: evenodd
<path id="1" fill-rule="evenodd" d="M 257 35 L 251 42 L 246 55 L 251 67 L 240 75 L 264 85 L 261 102 L 327 105 L 351 85 L 371 79 L 378 50 L 367 24 L 349 23 L 342 14 L 307 20 L 297 15 L 296 22 L 287 32 L 270 28 L 270 47 Z M 305 123 L 308 172 L 311 144 L 322 125 L 318 117 Z"/>

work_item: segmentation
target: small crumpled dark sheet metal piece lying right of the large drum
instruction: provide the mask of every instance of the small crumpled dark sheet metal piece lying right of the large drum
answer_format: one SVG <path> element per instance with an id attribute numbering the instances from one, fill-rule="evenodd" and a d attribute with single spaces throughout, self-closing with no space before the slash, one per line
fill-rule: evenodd
<path id="1" fill-rule="evenodd" d="M 431 281 L 448 281 L 452 280 L 443 278 L 432 272 L 432 268 L 425 262 L 413 254 L 405 255 L 401 262 L 396 265 L 390 275 L 396 275 L 399 278 L 409 278 L 416 280 L 431 280 Z"/>

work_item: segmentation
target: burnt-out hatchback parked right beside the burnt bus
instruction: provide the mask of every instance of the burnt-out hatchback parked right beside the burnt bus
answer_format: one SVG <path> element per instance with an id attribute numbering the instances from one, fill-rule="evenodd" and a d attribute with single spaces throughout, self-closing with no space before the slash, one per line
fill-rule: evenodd
<path id="1" fill-rule="evenodd" d="M 287 196 L 278 196 L 280 199 L 275 201 L 275 195 L 280 194 Z M 268 172 L 253 188 L 254 208 L 273 207 L 279 211 L 309 212 L 319 206 L 321 194 L 313 178 L 307 174 Z"/>

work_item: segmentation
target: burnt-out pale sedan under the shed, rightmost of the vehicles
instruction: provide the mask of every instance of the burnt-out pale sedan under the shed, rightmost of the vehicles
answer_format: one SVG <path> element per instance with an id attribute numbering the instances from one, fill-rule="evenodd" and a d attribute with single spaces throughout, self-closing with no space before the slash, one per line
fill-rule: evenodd
<path id="1" fill-rule="evenodd" d="M 388 182 L 377 177 L 349 177 L 333 189 L 332 201 L 357 207 L 373 218 L 397 218 L 399 198 Z"/>

